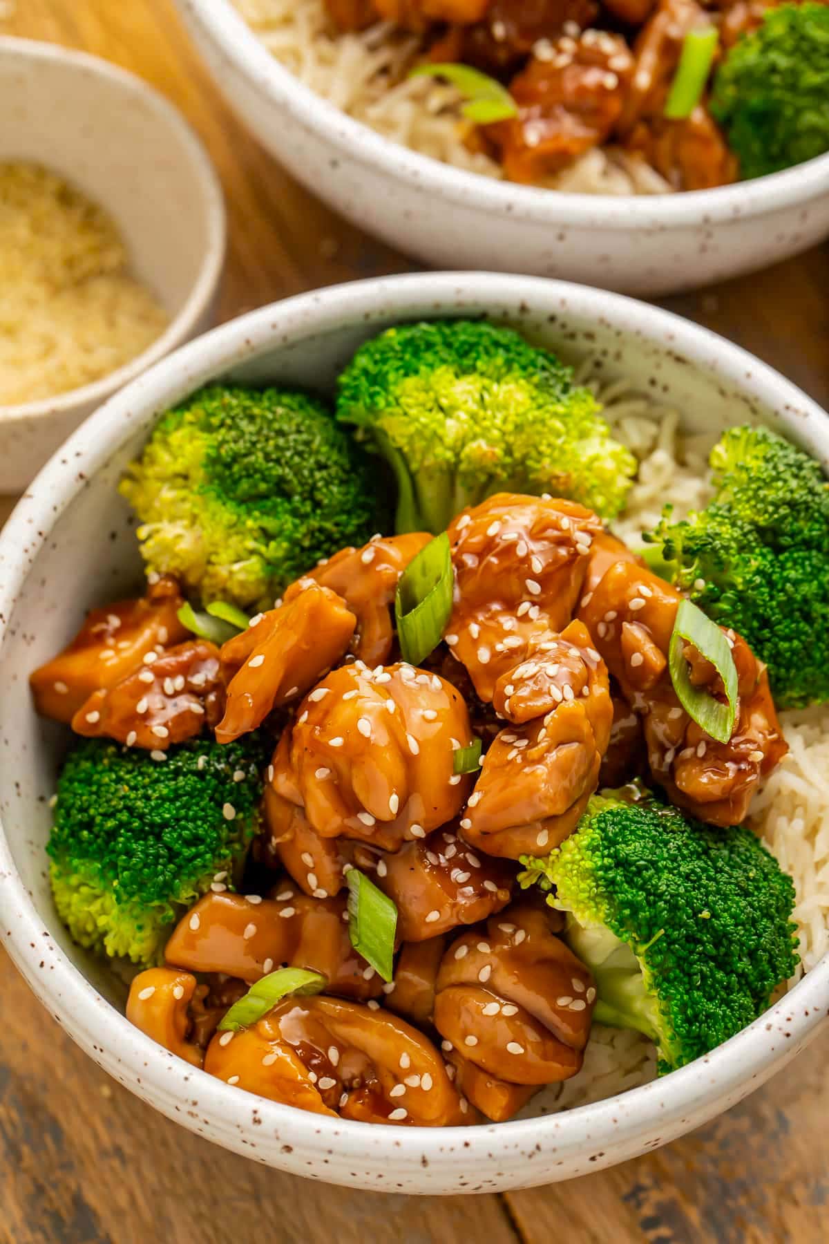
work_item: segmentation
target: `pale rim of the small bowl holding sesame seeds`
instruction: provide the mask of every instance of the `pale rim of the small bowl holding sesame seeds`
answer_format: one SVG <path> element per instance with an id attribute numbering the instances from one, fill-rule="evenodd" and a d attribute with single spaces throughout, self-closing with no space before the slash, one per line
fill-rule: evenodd
<path id="1" fill-rule="evenodd" d="M 81 406 L 93 408 L 186 341 L 215 295 L 225 262 L 227 235 L 225 199 L 219 174 L 194 128 L 160 91 L 119 65 L 112 65 L 99 56 L 62 47 L 57 44 L 42 44 L 34 39 L 20 39 L 16 35 L 0 35 L 0 57 L 6 56 L 41 63 L 60 61 L 71 65 L 80 72 L 96 77 L 104 90 L 112 88 L 133 98 L 140 98 L 143 103 L 149 104 L 168 128 L 175 132 L 180 148 L 189 160 L 193 179 L 199 183 L 208 241 L 198 275 L 180 310 L 173 316 L 164 332 L 150 342 L 140 355 L 135 355 L 114 372 L 108 372 L 97 381 L 67 389 L 65 393 L 57 393 L 55 397 L 39 398 L 35 402 L 17 402 L 12 406 L 0 404 L 0 425 L 16 419 L 41 419 L 63 414 Z M 118 224 L 117 220 L 116 224 Z"/>

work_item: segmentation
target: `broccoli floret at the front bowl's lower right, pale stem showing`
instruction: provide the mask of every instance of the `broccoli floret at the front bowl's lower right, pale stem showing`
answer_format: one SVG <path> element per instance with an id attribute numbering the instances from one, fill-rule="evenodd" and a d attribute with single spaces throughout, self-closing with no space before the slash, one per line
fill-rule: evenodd
<path id="1" fill-rule="evenodd" d="M 661 1071 L 751 1024 L 798 963 L 794 886 L 759 840 L 641 789 L 594 796 L 572 837 L 522 863 L 522 886 L 541 883 L 568 913 L 594 1018 L 651 1037 Z"/>

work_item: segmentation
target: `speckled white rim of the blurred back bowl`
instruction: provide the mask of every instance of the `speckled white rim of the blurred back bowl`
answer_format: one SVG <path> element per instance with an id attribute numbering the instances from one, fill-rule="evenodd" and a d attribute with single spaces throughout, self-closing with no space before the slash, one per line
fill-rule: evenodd
<path id="1" fill-rule="evenodd" d="M 471 204 L 515 220 L 578 223 L 583 228 L 630 233 L 733 223 L 804 205 L 829 192 L 829 152 L 751 182 L 677 194 L 575 194 L 483 177 L 385 138 L 317 95 L 268 52 L 231 0 L 174 2 L 250 87 L 324 137 L 344 158 L 364 168 L 380 168 L 411 189 L 452 204 Z"/>

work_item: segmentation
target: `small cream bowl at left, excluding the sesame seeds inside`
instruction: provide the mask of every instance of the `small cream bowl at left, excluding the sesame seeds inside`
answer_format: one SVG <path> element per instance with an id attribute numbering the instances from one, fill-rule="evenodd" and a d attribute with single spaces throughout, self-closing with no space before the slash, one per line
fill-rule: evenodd
<path id="1" fill-rule="evenodd" d="M 225 255 L 219 179 L 184 118 L 96 56 L 0 37 L 0 160 L 44 164 L 117 221 L 132 269 L 170 322 L 109 376 L 55 398 L 0 406 L 0 493 L 19 493 L 92 411 L 210 323 Z"/>

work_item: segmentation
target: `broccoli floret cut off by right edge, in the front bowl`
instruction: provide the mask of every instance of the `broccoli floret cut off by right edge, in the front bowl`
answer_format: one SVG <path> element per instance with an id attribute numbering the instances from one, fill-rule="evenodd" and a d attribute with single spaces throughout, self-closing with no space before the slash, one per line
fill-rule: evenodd
<path id="1" fill-rule="evenodd" d="M 779 708 L 829 699 L 829 483 L 766 428 L 732 428 L 711 466 L 712 503 L 644 534 L 651 569 L 747 639 Z"/>

